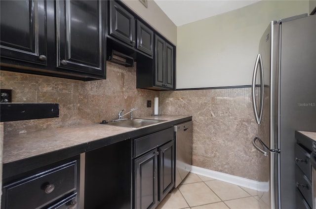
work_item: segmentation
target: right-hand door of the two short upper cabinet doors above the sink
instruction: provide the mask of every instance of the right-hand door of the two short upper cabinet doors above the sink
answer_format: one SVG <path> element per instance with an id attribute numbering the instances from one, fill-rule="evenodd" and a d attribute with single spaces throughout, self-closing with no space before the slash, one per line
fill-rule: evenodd
<path id="1" fill-rule="evenodd" d="M 154 54 L 154 32 L 137 20 L 137 49 Z"/>

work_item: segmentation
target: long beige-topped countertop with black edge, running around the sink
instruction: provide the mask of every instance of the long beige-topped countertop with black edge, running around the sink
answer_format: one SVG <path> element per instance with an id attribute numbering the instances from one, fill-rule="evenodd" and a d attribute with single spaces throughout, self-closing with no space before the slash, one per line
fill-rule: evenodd
<path id="1" fill-rule="evenodd" d="M 3 139 L 3 164 L 42 156 L 63 150 L 73 154 L 97 149 L 121 140 L 146 135 L 191 120 L 192 116 L 162 115 L 142 117 L 165 120 L 141 128 L 118 127 L 105 124 L 88 124 L 5 136 Z"/>

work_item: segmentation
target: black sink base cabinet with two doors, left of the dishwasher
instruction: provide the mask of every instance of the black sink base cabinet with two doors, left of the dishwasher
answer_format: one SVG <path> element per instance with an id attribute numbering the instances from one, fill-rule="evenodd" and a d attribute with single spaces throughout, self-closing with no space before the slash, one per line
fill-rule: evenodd
<path id="1" fill-rule="evenodd" d="M 134 139 L 134 208 L 155 209 L 174 187 L 173 128 Z"/>

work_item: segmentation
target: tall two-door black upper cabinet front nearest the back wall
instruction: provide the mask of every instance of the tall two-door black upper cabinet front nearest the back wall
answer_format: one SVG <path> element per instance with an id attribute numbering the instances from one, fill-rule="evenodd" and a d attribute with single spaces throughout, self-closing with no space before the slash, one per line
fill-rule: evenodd
<path id="1" fill-rule="evenodd" d="M 155 38 L 155 86 L 173 88 L 173 46 L 156 35 Z"/>

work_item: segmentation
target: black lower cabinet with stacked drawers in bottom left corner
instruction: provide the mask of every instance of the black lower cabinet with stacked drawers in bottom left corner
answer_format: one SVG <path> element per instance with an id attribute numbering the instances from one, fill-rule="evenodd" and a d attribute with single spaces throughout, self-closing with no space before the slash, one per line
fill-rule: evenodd
<path id="1" fill-rule="evenodd" d="M 79 156 L 3 179 L 1 209 L 79 209 Z"/>

